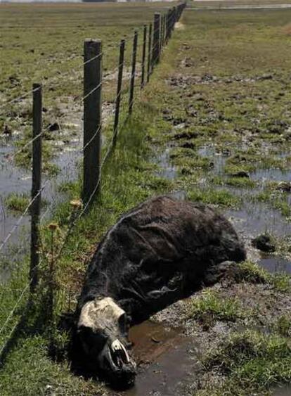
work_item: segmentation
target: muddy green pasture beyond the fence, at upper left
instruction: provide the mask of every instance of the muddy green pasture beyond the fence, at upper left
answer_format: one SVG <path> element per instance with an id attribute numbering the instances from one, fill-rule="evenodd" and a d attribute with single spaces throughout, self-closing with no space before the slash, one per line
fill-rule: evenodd
<path id="1" fill-rule="evenodd" d="M 44 127 L 58 124 L 63 141 L 75 136 L 68 125 L 82 124 L 83 46 L 86 38 L 103 42 L 103 105 L 112 113 L 117 87 L 119 42 L 126 40 L 124 83 L 129 89 L 134 30 L 139 33 L 137 72 L 141 70 L 143 25 L 153 22 L 155 11 L 167 11 L 165 3 L 153 4 L 1 4 L 0 131 L 18 136 L 18 147 L 31 138 L 32 83 L 43 84 Z M 23 94 L 27 94 L 22 97 Z M 13 101 L 19 98 L 18 101 Z M 13 101 L 13 103 L 11 103 Z M 128 96 L 122 104 L 127 106 Z M 2 135 L 2 133 L 1 133 Z M 56 134 L 45 134 L 44 162 L 60 153 Z M 58 134 L 57 134 L 58 135 Z M 2 136 L 1 136 L 2 137 Z M 19 139 L 20 138 L 20 139 Z M 57 136 L 59 139 L 59 136 Z M 23 151 L 18 165 L 30 167 Z M 48 167 L 56 173 L 56 167 Z"/>

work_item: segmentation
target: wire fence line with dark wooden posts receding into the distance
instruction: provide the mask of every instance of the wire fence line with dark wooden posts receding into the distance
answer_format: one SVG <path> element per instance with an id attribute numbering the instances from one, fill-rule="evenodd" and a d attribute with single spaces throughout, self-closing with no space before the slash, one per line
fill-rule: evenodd
<path id="1" fill-rule="evenodd" d="M 106 165 L 108 158 L 110 158 L 110 153 L 112 153 L 112 150 L 115 148 L 115 143 L 119 132 L 122 131 L 124 126 L 127 124 L 129 117 L 131 116 L 135 101 L 135 95 L 134 95 L 135 88 L 138 87 L 139 88 L 138 92 L 141 93 L 141 89 L 143 89 L 143 87 L 145 87 L 145 84 L 149 82 L 150 75 L 152 74 L 155 65 L 157 65 L 160 59 L 162 49 L 164 45 L 167 44 L 167 42 L 169 41 L 172 31 L 174 30 L 174 24 L 181 17 L 181 13 L 183 12 L 185 6 L 186 6 L 185 3 L 181 3 L 176 7 L 169 8 L 169 11 L 167 13 L 164 13 L 163 15 L 161 15 L 160 13 L 155 13 L 155 24 L 153 25 L 153 23 L 150 23 L 148 26 L 143 25 L 143 27 L 141 27 L 141 29 L 143 29 L 143 40 L 140 41 L 141 46 L 138 46 L 138 30 L 135 30 L 134 34 L 129 35 L 129 37 L 133 39 L 131 75 L 129 79 L 129 87 L 126 89 L 126 92 L 129 94 L 129 102 L 128 102 L 126 115 L 122 122 L 119 122 L 119 108 L 122 103 L 122 98 L 124 96 L 124 89 L 122 89 L 122 80 L 123 80 L 123 70 L 125 64 L 124 50 L 127 39 L 122 39 L 122 41 L 118 44 L 119 60 L 117 66 L 117 70 L 118 70 L 117 91 L 116 91 L 117 93 L 115 96 L 115 100 L 113 102 L 115 103 L 115 123 L 112 131 L 110 143 L 108 143 L 108 147 L 107 150 L 105 151 L 105 154 L 103 155 L 103 158 L 101 158 L 101 133 L 102 133 L 101 91 L 103 88 L 102 59 L 103 59 L 104 51 L 101 48 L 102 47 L 101 41 L 98 40 L 85 41 L 84 44 L 85 56 L 84 56 L 84 62 L 82 63 L 82 66 L 84 68 L 84 95 L 79 101 L 79 103 L 84 104 L 84 142 L 83 142 L 83 148 L 80 151 L 82 155 L 82 157 L 80 156 L 80 158 L 83 158 L 84 160 L 84 179 L 85 177 L 91 177 L 91 186 L 89 189 L 88 184 L 84 182 L 83 191 L 82 191 L 82 196 L 83 198 L 85 198 L 84 206 L 83 207 L 78 206 L 77 211 L 75 210 L 72 212 L 72 217 L 67 232 L 63 236 L 63 242 L 60 244 L 58 254 L 56 255 L 56 257 L 54 257 L 55 262 L 58 262 L 58 260 L 60 259 L 63 253 L 63 249 L 65 248 L 65 245 L 67 243 L 67 239 L 72 234 L 72 230 L 75 228 L 77 221 L 84 215 L 84 213 L 89 208 L 91 203 L 93 203 L 93 200 L 96 197 L 96 193 L 100 191 L 103 167 Z M 159 23 L 157 23 L 157 20 Z M 138 73 L 136 72 L 136 58 L 138 55 L 138 49 L 141 48 L 142 48 L 141 82 L 136 83 L 135 79 L 138 76 Z M 91 56 L 90 54 L 91 55 L 93 54 L 93 56 Z M 39 87 L 34 87 L 34 89 L 32 89 L 32 91 L 27 92 L 25 96 L 22 95 L 19 98 L 14 98 L 11 101 L 3 103 L 2 106 L 0 106 L 0 110 L 1 108 L 4 108 L 6 105 L 14 103 L 15 101 L 19 101 L 22 98 L 29 96 L 30 94 L 34 95 L 35 93 L 41 92 L 41 89 L 44 85 L 45 84 L 39 85 Z M 41 98 L 39 100 L 41 100 Z M 34 136 L 32 137 L 32 139 L 30 139 L 30 141 L 25 143 L 25 145 L 22 146 L 20 150 L 16 151 L 13 154 L 13 158 L 15 157 L 15 155 L 18 155 L 18 153 L 21 153 L 23 150 L 25 150 L 25 148 L 33 144 L 34 145 L 33 155 L 35 160 L 35 155 L 37 155 L 35 148 L 37 147 L 37 144 L 41 145 L 41 136 L 43 136 L 44 133 L 49 128 L 48 126 L 45 129 L 41 129 L 41 113 L 42 113 L 41 106 L 36 106 L 36 110 L 34 111 Z M 40 122 L 38 123 L 38 127 L 36 127 L 35 124 L 37 120 L 38 122 Z M 39 147 L 41 149 L 41 146 Z M 90 155 L 89 154 L 90 152 L 94 153 L 94 155 L 93 156 Z M 36 177 L 36 172 L 41 172 L 41 156 L 37 164 L 37 169 L 33 169 L 33 179 L 34 177 Z M 39 174 L 39 177 L 41 177 L 41 173 Z M 31 207 L 32 207 L 32 213 L 31 213 L 32 219 L 34 216 L 37 216 L 36 222 L 34 223 L 34 227 L 36 231 L 39 233 L 39 226 L 42 220 L 44 219 L 44 217 L 46 216 L 50 207 L 48 207 L 46 211 L 40 216 L 39 207 L 36 210 L 35 209 L 36 205 L 34 205 L 34 202 L 41 197 L 41 192 L 48 185 L 48 181 L 49 180 L 46 180 L 46 182 L 39 189 L 37 189 L 37 191 L 34 191 L 34 193 L 32 192 L 32 199 L 30 200 L 27 207 L 20 215 L 18 221 L 13 226 L 11 231 L 9 231 L 8 235 L 4 238 L 4 241 L 2 241 L 2 243 L 0 244 L 0 252 L 4 248 L 6 243 L 8 243 L 8 240 L 15 232 L 15 229 L 18 228 L 18 226 L 22 222 L 22 219 L 25 217 L 25 215 L 27 215 L 27 212 L 30 210 Z M 39 245 L 39 241 L 35 243 L 35 241 L 33 242 L 33 238 L 32 238 L 32 243 L 31 243 L 32 250 L 38 249 L 38 245 Z M 20 250 L 18 250 L 18 252 L 15 254 L 13 260 L 16 257 L 16 255 L 18 255 L 19 252 Z M 40 254 L 39 251 L 38 252 L 34 251 L 34 253 L 37 253 L 37 255 Z M 9 321 L 11 321 L 11 318 L 13 318 L 15 309 L 18 307 L 18 305 L 20 305 L 20 302 L 24 297 L 25 293 L 27 292 L 27 290 L 30 288 L 30 293 L 34 293 L 35 289 L 31 288 L 31 286 L 33 283 L 34 286 L 37 286 L 37 281 L 38 281 L 38 277 L 36 276 L 37 269 L 39 268 L 42 262 L 43 262 L 43 257 L 41 257 L 40 260 L 37 260 L 37 264 L 35 264 L 35 262 L 33 262 L 31 258 L 30 276 L 28 279 L 28 283 L 21 290 L 18 299 L 15 301 L 15 305 L 13 305 L 13 309 L 11 309 L 11 311 L 8 313 L 8 316 L 6 317 L 4 324 L 0 328 L 0 334 L 3 333 L 4 328 L 6 328 Z M 13 326 L 11 332 L 8 334 L 8 338 L 11 337 L 16 326 L 17 323 L 15 324 L 15 326 Z M 8 338 L 6 338 L 6 340 Z M 3 352 L 5 345 L 6 342 L 4 342 L 4 344 L 0 349 L 0 355 L 1 352 Z"/>

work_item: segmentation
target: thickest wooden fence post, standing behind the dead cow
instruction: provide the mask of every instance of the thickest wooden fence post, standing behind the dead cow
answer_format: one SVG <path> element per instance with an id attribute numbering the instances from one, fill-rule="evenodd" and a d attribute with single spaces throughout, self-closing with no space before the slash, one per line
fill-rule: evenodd
<path id="1" fill-rule="evenodd" d="M 102 42 L 84 41 L 84 203 L 100 191 Z"/>

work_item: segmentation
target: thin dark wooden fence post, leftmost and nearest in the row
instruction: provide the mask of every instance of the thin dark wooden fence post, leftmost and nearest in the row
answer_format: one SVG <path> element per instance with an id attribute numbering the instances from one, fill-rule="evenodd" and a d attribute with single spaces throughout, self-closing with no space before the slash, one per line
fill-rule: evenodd
<path id="1" fill-rule="evenodd" d="M 32 105 L 32 205 L 30 244 L 30 292 L 34 293 L 39 276 L 39 219 L 41 214 L 41 129 L 42 129 L 42 87 L 33 84 Z"/>

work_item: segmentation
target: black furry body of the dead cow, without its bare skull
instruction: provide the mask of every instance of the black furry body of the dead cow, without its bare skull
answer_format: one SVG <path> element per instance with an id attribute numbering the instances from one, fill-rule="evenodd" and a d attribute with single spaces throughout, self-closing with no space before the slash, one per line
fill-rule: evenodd
<path id="1" fill-rule="evenodd" d="M 77 313 L 85 302 L 110 296 L 134 324 L 200 288 L 216 264 L 244 259 L 233 226 L 216 210 L 153 198 L 124 215 L 103 238 Z"/>

